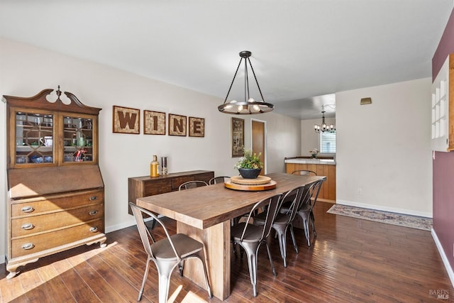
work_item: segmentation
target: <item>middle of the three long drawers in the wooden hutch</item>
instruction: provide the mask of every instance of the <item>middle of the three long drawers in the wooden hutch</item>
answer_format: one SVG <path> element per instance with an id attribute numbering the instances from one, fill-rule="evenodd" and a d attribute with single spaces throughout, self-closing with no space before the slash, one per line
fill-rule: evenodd
<path id="1" fill-rule="evenodd" d="M 71 209 L 69 211 L 56 211 L 51 214 L 26 216 L 11 220 L 11 238 L 43 233 L 65 226 L 80 224 L 84 221 L 103 218 L 104 204 Z"/>

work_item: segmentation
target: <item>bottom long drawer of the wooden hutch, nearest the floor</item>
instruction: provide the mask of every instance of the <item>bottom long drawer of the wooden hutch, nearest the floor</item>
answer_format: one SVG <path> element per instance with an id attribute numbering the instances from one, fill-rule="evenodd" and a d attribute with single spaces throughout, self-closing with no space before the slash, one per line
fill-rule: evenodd
<path id="1" fill-rule="evenodd" d="M 80 241 L 104 232 L 103 219 L 96 219 L 78 226 L 63 228 L 50 233 L 18 238 L 11 241 L 11 258 L 38 253 L 40 251 Z"/>

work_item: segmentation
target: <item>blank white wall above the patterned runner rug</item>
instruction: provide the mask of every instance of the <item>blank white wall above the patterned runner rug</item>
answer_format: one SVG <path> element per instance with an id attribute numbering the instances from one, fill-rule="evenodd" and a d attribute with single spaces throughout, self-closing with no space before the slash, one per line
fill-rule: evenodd
<path id="1" fill-rule="evenodd" d="M 430 125 L 431 78 L 336 93 L 338 204 L 431 217 Z"/>

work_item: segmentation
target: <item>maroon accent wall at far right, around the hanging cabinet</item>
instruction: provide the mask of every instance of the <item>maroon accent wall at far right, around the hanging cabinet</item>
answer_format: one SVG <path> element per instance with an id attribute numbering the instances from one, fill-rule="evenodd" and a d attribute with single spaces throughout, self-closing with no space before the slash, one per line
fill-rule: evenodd
<path id="1" fill-rule="evenodd" d="M 432 58 L 433 79 L 450 53 L 454 53 L 454 10 Z M 433 160 L 433 230 L 454 270 L 454 152 L 436 152 Z"/>

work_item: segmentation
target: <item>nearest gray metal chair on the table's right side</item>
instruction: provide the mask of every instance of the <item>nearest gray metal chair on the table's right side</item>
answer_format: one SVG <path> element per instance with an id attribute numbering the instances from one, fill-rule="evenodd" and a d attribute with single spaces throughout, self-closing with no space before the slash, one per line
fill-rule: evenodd
<path id="1" fill-rule="evenodd" d="M 257 297 L 257 255 L 262 243 L 265 243 L 267 248 L 272 274 L 276 275 L 275 265 L 272 263 L 270 247 L 268 246 L 266 239 L 270 236 L 272 221 L 277 214 L 281 197 L 282 194 L 276 194 L 275 196 L 257 202 L 253 206 L 253 209 L 251 209 L 248 219 L 245 222 L 235 224 L 231 228 L 231 241 L 233 243 L 235 255 L 236 244 L 239 244 L 245 250 L 246 255 L 248 255 L 249 275 L 250 282 L 253 285 L 254 297 Z M 250 220 L 253 219 L 253 214 L 255 214 L 255 211 L 258 209 L 265 209 L 265 224 L 263 226 L 256 226 L 249 223 Z"/>

